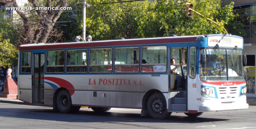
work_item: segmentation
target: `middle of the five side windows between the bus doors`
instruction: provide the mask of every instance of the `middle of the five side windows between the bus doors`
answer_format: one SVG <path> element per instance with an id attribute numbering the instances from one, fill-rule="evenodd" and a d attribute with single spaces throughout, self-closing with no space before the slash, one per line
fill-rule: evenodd
<path id="1" fill-rule="evenodd" d="M 89 72 L 112 72 L 112 48 L 90 49 Z"/>

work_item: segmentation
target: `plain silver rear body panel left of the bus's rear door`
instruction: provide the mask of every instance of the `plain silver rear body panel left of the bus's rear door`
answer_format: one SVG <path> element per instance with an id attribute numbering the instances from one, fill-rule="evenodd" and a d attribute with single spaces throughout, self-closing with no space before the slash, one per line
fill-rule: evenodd
<path id="1" fill-rule="evenodd" d="M 18 99 L 32 103 L 32 79 L 31 75 L 19 75 Z"/>

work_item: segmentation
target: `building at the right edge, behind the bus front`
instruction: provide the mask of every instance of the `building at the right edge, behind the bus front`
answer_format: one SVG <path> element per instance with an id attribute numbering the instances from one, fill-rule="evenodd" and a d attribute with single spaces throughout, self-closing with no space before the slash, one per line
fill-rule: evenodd
<path id="1" fill-rule="evenodd" d="M 256 55 L 256 1 L 255 0 L 222 0 L 222 6 L 234 2 L 234 12 L 239 14 L 236 21 L 243 23 L 247 34 L 244 38 L 244 50 L 247 54 L 247 66 L 244 67 L 246 80 L 246 96 L 256 97 L 255 87 L 255 55 Z M 236 35 L 236 34 L 233 34 Z"/>

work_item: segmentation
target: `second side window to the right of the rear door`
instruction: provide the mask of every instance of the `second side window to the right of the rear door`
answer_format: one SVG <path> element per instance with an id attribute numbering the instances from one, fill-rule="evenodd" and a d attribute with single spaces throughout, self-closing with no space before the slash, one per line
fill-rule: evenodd
<path id="1" fill-rule="evenodd" d="M 66 56 L 66 72 L 87 72 L 88 50 L 68 50 Z"/>

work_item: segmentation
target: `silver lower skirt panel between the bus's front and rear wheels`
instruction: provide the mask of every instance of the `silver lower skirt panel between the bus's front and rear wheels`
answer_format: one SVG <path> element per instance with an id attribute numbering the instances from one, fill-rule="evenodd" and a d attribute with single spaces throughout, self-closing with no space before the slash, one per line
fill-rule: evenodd
<path id="1" fill-rule="evenodd" d="M 94 97 L 95 94 L 97 94 L 97 96 Z M 72 103 L 96 107 L 142 108 L 144 94 L 145 93 L 76 91 L 75 95 L 72 96 Z"/>

